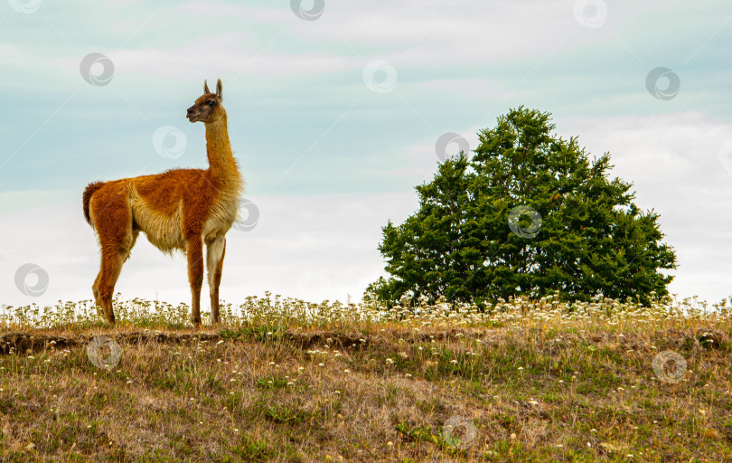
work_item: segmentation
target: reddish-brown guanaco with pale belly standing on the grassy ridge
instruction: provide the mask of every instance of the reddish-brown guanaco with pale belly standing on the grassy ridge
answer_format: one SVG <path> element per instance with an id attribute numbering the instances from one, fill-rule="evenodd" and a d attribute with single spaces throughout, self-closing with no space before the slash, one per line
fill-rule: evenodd
<path id="1" fill-rule="evenodd" d="M 201 325 L 203 243 L 211 290 L 211 321 L 219 321 L 219 285 L 226 232 L 237 219 L 243 179 L 231 153 L 226 111 L 221 106 L 221 80 L 216 93 L 204 83 L 204 94 L 188 109 L 191 122 L 206 126 L 209 168 L 174 169 L 89 184 L 84 216 L 97 231 L 101 267 L 92 290 L 109 323 L 115 323 L 112 296 L 122 265 L 140 231 L 164 252 L 183 250 L 188 259 L 192 322 Z"/>

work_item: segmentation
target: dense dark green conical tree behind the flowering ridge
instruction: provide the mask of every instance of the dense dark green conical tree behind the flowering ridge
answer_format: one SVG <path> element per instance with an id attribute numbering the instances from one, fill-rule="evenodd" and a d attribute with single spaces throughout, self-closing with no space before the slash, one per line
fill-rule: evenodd
<path id="1" fill-rule="evenodd" d="M 608 179 L 608 154 L 590 161 L 577 138 L 551 132 L 550 114 L 511 109 L 417 186 L 419 210 L 382 229 L 389 279 L 367 292 L 483 305 L 513 295 L 565 300 L 668 294 L 676 257 L 632 184 Z"/>

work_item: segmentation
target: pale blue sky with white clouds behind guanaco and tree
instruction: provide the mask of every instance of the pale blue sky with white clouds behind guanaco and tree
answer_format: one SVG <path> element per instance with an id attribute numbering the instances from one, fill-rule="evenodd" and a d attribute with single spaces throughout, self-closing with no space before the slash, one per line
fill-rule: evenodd
<path id="1" fill-rule="evenodd" d="M 381 227 L 418 209 L 414 186 L 521 105 L 609 153 L 661 215 L 671 293 L 718 302 L 732 296 L 729 43 L 727 0 L 8 0 L 0 304 L 91 298 L 84 187 L 205 168 L 185 109 L 219 78 L 247 183 L 227 302 L 358 301 L 386 275 Z M 141 235 L 116 292 L 190 304 L 186 271 Z"/>

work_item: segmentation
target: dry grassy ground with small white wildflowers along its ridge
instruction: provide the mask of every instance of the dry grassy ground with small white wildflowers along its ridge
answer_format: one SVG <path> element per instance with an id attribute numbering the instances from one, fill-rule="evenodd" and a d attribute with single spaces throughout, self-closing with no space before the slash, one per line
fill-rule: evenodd
<path id="1" fill-rule="evenodd" d="M 267 295 L 202 332 L 152 306 L 117 300 L 115 329 L 79 305 L 6 311 L 0 460 L 732 461 L 726 304 Z M 95 335 L 121 346 L 114 368 L 90 362 Z M 666 350 L 687 364 L 671 383 Z"/>

